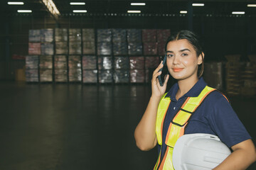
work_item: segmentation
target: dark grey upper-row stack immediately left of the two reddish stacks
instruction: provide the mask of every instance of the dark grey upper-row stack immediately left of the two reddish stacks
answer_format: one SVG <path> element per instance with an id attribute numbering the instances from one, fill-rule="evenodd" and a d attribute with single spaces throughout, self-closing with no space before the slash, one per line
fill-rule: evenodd
<path id="1" fill-rule="evenodd" d="M 142 30 L 127 30 L 128 55 L 142 55 Z"/>

